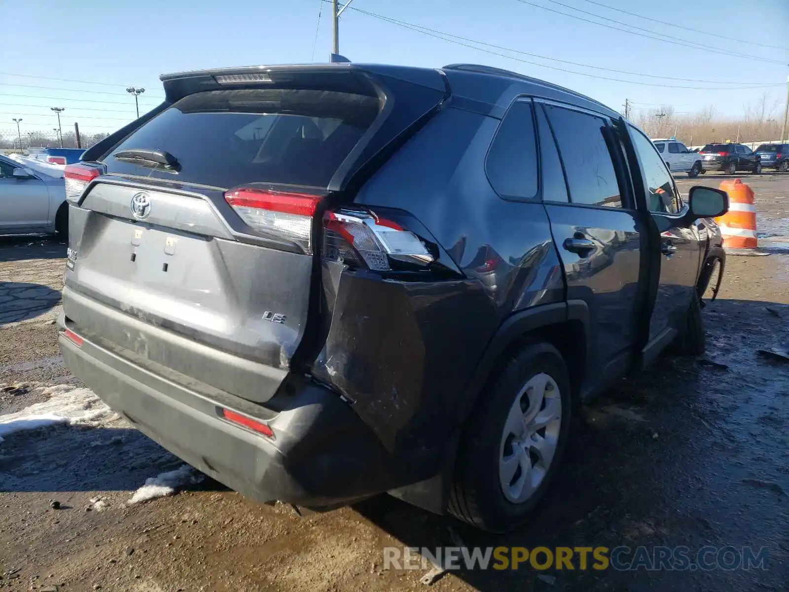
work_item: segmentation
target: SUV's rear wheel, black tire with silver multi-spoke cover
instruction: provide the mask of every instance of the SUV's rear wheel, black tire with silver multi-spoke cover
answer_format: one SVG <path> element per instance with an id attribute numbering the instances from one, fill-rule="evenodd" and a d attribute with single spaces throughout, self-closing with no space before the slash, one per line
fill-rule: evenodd
<path id="1" fill-rule="evenodd" d="M 524 523 L 561 461 L 570 429 L 571 399 L 567 365 L 555 347 L 532 341 L 511 355 L 481 395 L 464 430 L 450 513 L 495 533 Z M 545 423 L 542 428 L 537 427 L 540 415 Z M 545 455 L 551 451 L 546 462 Z M 534 481 L 524 489 L 529 476 Z"/>

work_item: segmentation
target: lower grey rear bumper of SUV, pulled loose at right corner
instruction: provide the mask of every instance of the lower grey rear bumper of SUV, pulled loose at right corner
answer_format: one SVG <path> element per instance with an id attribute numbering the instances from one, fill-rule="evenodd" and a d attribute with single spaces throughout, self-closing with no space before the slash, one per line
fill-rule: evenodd
<path id="1" fill-rule="evenodd" d="M 273 410 L 232 395 L 212 398 L 130 362 L 88 339 L 59 343 L 73 373 L 137 429 L 211 478 L 250 498 L 331 506 L 415 478 L 338 395 L 308 380 L 278 395 Z M 74 328 L 78 333 L 78 328 Z M 229 409 L 266 423 L 273 438 L 222 418 Z"/>

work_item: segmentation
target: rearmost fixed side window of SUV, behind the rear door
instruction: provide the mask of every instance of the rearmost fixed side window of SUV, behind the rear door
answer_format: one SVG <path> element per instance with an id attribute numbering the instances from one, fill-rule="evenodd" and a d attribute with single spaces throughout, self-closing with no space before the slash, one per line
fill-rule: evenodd
<path id="1" fill-rule="evenodd" d="M 485 171 L 501 197 L 537 197 L 537 142 L 530 101 L 518 101 L 507 111 L 488 151 Z"/>

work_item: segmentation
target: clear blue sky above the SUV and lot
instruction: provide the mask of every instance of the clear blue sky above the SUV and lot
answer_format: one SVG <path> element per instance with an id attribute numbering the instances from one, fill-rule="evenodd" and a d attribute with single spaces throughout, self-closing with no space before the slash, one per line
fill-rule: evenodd
<path id="1" fill-rule="evenodd" d="M 322 0 L 0 0 L 0 14 L 0 133 L 16 132 L 12 118 L 23 134 L 52 133 L 50 107 L 65 107 L 64 131 L 76 121 L 111 132 L 135 116 L 125 88 L 145 88 L 140 113 L 163 99 L 161 73 L 326 62 L 331 51 Z M 617 111 L 629 99 L 635 110 L 712 105 L 737 117 L 767 92 L 781 118 L 789 0 L 353 0 L 339 44 L 353 62 L 510 69 Z"/>

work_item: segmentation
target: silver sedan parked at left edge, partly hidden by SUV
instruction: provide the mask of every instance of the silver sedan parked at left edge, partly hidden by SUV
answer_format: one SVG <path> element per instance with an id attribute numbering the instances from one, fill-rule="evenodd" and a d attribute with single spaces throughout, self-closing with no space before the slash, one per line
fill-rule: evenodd
<path id="1" fill-rule="evenodd" d="M 68 234 L 65 185 L 57 173 L 0 155 L 0 234 Z"/>

